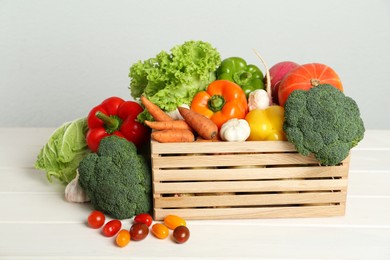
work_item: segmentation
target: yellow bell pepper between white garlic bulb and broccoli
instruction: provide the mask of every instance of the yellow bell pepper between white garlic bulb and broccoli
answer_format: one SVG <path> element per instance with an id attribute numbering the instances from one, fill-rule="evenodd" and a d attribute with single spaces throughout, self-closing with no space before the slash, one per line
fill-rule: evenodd
<path id="1" fill-rule="evenodd" d="M 281 106 L 254 109 L 246 115 L 245 120 L 251 128 L 248 141 L 287 140 L 283 132 L 284 108 Z"/>

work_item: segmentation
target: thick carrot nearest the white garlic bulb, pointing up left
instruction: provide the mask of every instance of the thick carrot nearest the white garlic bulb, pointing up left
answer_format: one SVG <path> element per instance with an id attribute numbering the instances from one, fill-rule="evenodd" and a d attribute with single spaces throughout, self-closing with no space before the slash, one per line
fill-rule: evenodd
<path id="1" fill-rule="evenodd" d="M 178 107 L 178 110 L 187 124 L 201 137 L 211 140 L 217 137 L 218 127 L 211 119 L 185 107 Z"/>

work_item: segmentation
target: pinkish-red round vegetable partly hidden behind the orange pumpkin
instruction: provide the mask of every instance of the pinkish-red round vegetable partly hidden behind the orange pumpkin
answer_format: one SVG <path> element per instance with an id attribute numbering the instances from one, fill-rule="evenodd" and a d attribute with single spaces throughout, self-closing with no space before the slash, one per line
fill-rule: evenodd
<path id="1" fill-rule="evenodd" d="M 271 77 L 271 92 L 272 92 L 272 101 L 274 104 L 279 104 L 278 92 L 279 85 L 284 76 L 286 76 L 292 69 L 298 67 L 299 64 L 292 61 L 282 61 L 269 69 L 269 74 Z"/>

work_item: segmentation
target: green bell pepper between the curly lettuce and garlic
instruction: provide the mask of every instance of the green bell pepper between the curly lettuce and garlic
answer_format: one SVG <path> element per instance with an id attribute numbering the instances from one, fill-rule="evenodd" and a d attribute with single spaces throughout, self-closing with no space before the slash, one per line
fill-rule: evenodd
<path id="1" fill-rule="evenodd" d="M 217 79 L 225 79 L 239 85 L 248 97 L 256 89 L 264 89 L 263 73 L 240 57 L 224 59 L 217 69 Z"/>

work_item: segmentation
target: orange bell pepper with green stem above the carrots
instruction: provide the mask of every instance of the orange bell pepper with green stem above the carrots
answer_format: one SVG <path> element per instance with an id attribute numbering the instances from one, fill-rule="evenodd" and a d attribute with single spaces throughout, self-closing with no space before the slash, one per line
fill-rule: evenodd
<path id="1" fill-rule="evenodd" d="M 205 91 L 198 92 L 191 110 L 210 118 L 218 129 L 232 118 L 245 118 L 248 103 L 242 88 L 228 80 L 216 80 Z"/>

